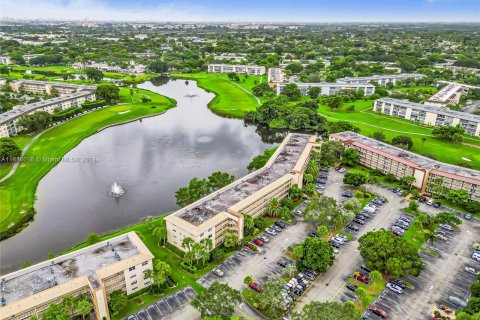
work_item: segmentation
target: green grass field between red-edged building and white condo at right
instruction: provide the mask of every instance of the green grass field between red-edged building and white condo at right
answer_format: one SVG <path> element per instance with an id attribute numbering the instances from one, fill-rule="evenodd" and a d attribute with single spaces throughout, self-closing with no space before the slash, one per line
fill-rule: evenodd
<path id="1" fill-rule="evenodd" d="M 354 111 L 348 111 L 347 107 L 354 105 Z M 421 127 L 417 123 L 380 115 L 373 111 L 372 100 L 357 100 L 344 103 L 337 110 L 331 110 L 325 105 L 320 106 L 319 113 L 328 120 L 346 120 L 361 129 L 361 134 L 369 136 L 373 132 L 381 131 L 391 140 L 398 135 L 410 136 L 413 140 L 412 152 L 435 158 L 438 161 L 461 164 L 468 163 L 474 169 L 480 169 L 480 139 L 473 136 L 465 136 L 465 143 L 456 144 L 436 138 L 432 135 L 432 129 Z M 422 138 L 426 138 L 422 143 Z M 466 162 L 462 158 L 471 161 Z"/>

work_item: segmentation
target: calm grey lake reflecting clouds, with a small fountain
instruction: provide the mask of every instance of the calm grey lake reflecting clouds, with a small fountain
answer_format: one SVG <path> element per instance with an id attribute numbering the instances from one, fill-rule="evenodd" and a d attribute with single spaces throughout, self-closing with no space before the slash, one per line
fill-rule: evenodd
<path id="1" fill-rule="evenodd" d="M 207 108 L 214 95 L 195 82 L 155 79 L 139 87 L 175 99 L 177 107 L 106 129 L 66 154 L 96 161 L 62 162 L 40 181 L 35 221 L 0 244 L 1 274 L 61 252 L 88 232 L 175 210 L 175 191 L 190 179 L 217 170 L 243 176 L 255 155 L 283 137 L 215 115 Z M 115 181 L 126 190 L 121 198 L 107 195 Z"/>

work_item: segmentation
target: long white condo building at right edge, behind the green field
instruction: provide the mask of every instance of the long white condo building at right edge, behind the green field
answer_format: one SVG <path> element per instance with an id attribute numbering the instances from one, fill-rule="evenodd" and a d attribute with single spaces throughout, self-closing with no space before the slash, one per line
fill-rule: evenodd
<path id="1" fill-rule="evenodd" d="M 465 133 L 480 136 L 480 116 L 432 105 L 392 98 L 377 99 L 373 110 L 431 126 L 457 126 Z"/>

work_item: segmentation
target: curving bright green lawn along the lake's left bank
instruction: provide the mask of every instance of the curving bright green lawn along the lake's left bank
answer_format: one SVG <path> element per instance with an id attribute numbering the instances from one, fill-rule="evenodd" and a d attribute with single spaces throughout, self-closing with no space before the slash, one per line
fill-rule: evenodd
<path id="1" fill-rule="evenodd" d="M 121 94 L 122 100 L 131 101 L 129 90 L 122 88 Z M 152 102 L 138 102 L 142 94 L 150 96 Z M 52 128 L 35 140 L 25 156 L 61 158 L 83 139 L 105 126 L 155 115 L 175 106 L 173 100 L 146 90 L 135 90 L 134 101 L 134 104 L 87 113 Z M 128 112 L 122 113 L 125 111 Z M 55 164 L 54 161 L 22 163 L 13 176 L 0 184 L 0 232 L 13 226 L 25 210 L 33 206 L 38 182 Z"/>

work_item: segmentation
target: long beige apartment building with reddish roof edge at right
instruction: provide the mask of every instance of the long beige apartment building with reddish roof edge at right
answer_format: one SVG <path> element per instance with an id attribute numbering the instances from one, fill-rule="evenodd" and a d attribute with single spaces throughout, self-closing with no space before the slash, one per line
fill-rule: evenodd
<path id="1" fill-rule="evenodd" d="M 438 162 L 351 131 L 331 134 L 330 140 L 356 148 L 360 164 L 367 168 L 392 173 L 397 179 L 415 177 L 413 186 L 422 193 L 430 193 L 431 183 L 441 178 L 447 189 L 464 189 L 471 200 L 480 201 L 480 171 Z"/>

